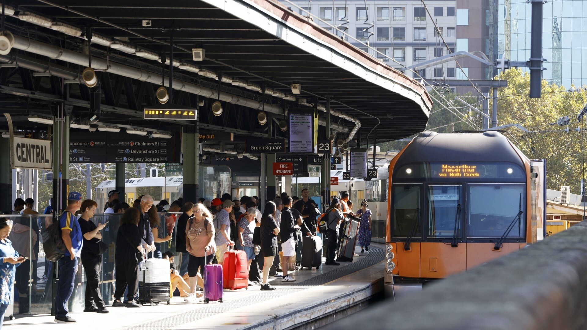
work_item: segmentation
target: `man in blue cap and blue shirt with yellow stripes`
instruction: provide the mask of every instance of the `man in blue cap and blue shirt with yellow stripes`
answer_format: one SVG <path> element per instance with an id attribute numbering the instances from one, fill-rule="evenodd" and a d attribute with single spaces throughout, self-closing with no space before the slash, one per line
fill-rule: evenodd
<path id="1" fill-rule="evenodd" d="M 67 248 L 65 255 L 57 262 L 59 281 L 55 296 L 55 322 L 75 323 L 75 319 L 68 316 L 68 301 L 73 292 L 77 260 L 82 252 L 82 230 L 74 215 L 82 206 L 82 194 L 72 191 L 68 196 L 68 206 L 59 217 L 61 238 Z"/>

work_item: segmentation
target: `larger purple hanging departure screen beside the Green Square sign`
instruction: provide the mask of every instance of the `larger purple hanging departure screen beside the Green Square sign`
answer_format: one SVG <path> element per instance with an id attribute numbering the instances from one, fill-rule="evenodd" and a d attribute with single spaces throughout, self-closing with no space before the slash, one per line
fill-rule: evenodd
<path id="1" fill-rule="evenodd" d="M 318 114 L 313 109 L 289 109 L 289 152 L 316 153 Z"/>

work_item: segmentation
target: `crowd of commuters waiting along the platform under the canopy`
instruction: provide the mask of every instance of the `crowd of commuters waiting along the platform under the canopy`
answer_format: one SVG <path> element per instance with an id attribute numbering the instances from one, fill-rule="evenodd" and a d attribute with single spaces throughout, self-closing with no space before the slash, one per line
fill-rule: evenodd
<path id="1" fill-rule="evenodd" d="M 55 321 L 58 323 L 76 322 L 69 316 L 68 301 L 75 286 L 79 262 L 83 265 L 86 278 L 84 312 L 109 312 L 99 285 L 102 254 L 107 250 L 107 245 L 102 241 L 102 230 L 108 227 L 109 217 L 116 217 L 119 221 L 114 253 L 115 290 L 112 307 L 137 308 L 141 307 L 137 303 L 140 263 L 147 258 L 170 261 L 172 293 L 177 289 L 180 297 L 187 302 L 196 299 L 203 301 L 203 294 L 198 292 L 198 288 L 204 287 L 204 266 L 212 262 L 222 265 L 224 252 L 232 248 L 243 250 L 247 255 L 249 286 L 259 283 L 262 291 L 274 290 L 275 287 L 269 284 L 270 277 L 281 278 L 281 282 L 295 282 L 291 271 L 300 268 L 302 237 L 316 235 L 317 219 L 321 213 L 315 201 L 309 198 L 308 189 L 302 190 L 301 198 L 283 193 L 262 208 L 257 196 L 232 200 L 230 194 L 212 200 L 200 198 L 197 204 L 190 201 L 184 203 L 180 198 L 172 203 L 161 200 L 156 205 L 151 196 L 144 195 L 134 200 L 131 207 L 120 202 L 119 194 L 116 190 L 107 194 L 109 198 L 103 213 L 109 215 L 100 218 L 106 219 L 104 221 L 93 220 L 98 207 L 96 201 L 82 200 L 82 195 L 75 191 L 69 194 L 67 206 L 59 215 L 60 238 L 66 251 L 56 262 L 59 281 Z M 53 211 L 51 204 L 50 201 L 45 213 Z M 346 215 L 360 217 L 358 242 L 361 252 L 369 251 L 371 211 L 367 208 L 366 200 L 360 205 L 361 208 L 353 212 L 352 201 L 346 192 L 340 198 L 332 198 L 326 210 L 328 232 L 322 233 L 329 242 L 326 265 L 339 265 L 335 255 L 341 235 L 340 224 Z M 33 206 L 31 198 L 17 198 L 13 213 L 38 214 Z M 31 230 L 25 227 L 14 224 L 8 218 L 0 218 L 0 257 L 4 258 L 0 265 L 4 270 L 0 272 L 0 322 L 6 306 L 12 303 L 10 288 L 19 275 L 15 271 L 18 270 L 16 266 L 28 261 L 27 258 L 19 257 L 19 244 L 25 240 L 19 239 L 18 235 Z M 33 228 L 33 231 L 35 235 L 40 233 L 38 228 Z M 18 243 L 14 242 L 15 238 Z M 171 251 L 163 252 L 168 250 L 163 248 L 163 244 L 169 243 L 168 247 L 171 247 L 172 240 L 177 255 Z M 38 255 L 39 237 L 35 236 L 35 242 L 35 253 L 31 253 L 29 248 L 21 254 L 32 257 Z M 21 245 L 30 247 L 30 244 Z M 36 275 L 36 271 L 33 274 Z"/>

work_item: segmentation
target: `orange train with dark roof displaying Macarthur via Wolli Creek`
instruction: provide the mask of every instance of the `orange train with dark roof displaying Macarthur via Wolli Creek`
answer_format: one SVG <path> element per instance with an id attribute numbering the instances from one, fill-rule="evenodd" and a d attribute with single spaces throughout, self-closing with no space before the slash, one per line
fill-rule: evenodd
<path id="1" fill-rule="evenodd" d="M 498 132 L 423 132 L 389 164 L 386 294 L 544 238 L 545 160 Z"/>

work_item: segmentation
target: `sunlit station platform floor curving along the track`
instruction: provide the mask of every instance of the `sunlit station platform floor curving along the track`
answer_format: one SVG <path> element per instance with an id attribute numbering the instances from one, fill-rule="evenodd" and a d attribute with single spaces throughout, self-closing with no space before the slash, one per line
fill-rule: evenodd
<path id="1" fill-rule="evenodd" d="M 339 319 L 350 309 L 358 310 L 361 304 L 382 295 L 383 260 L 384 246 L 372 244 L 365 253 L 357 247 L 353 262 L 291 272 L 296 279 L 293 284 L 269 279 L 276 287 L 274 291 L 260 291 L 260 285 L 224 290 L 222 304 L 172 298 L 170 305 L 109 307 L 109 314 L 73 311 L 70 316 L 77 320 L 72 326 L 84 330 L 292 329 L 305 325 L 313 329 L 314 324 Z M 46 330 L 63 329 L 64 325 L 55 323 L 54 318 L 48 314 L 16 315 L 4 326 L 12 330 L 30 329 L 32 325 L 42 325 Z"/>

